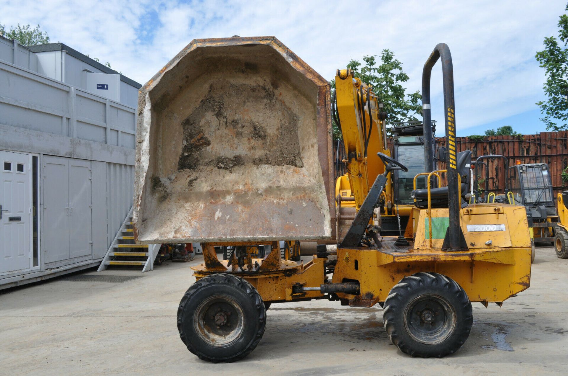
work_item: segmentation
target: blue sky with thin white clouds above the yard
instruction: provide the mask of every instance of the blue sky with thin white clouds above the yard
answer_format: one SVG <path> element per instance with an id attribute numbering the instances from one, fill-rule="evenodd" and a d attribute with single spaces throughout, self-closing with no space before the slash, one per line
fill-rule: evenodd
<path id="1" fill-rule="evenodd" d="M 61 41 L 145 83 L 194 38 L 274 35 L 327 79 L 350 59 L 391 49 L 420 89 L 433 47 L 452 50 L 458 135 L 511 125 L 545 131 L 534 53 L 556 35 L 557 1 L 0 0 L 0 23 L 40 24 Z M 348 4 L 348 6 L 347 6 Z M 439 66 L 432 117 L 442 119 Z"/>

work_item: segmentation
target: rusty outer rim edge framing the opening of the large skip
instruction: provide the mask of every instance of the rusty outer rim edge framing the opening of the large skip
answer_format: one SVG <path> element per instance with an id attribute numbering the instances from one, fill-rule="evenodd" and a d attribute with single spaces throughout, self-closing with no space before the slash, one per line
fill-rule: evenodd
<path id="1" fill-rule="evenodd" d="M 301 72 L 308 79 L 312 80 L 318 86 L 318 105 L 316 109 L 316 131 L 318 139 L 318 158 L 321 167 L 321 173 L 324 181 L 325 192 L 327 193 L 331 238 L 329 237 L 311 237 L 303 236 L 301 240 L 321 240 L 324 243 L 335 242 L 336 239 L 336 213 L 335 213 L 335 184 L 333 181 L 333 143 L 332 143 L 332 125 L 331 125 L 331 90 L 330 85 L 318 72 L 312 69 L 306 62 L 300 59 L 289 48 L 282 44 L 274 36 L 265 37 L 230 37 L 230 38 L 212 38 L 212 39 L 194 39 L 191 41 L 181 52 L 172 58 L 160 71 L 157 72 L 139 91 L 138 100 L 138 121 L 136 130 L 136 165 L 135 168 L 135 183 L 134 183 L 134 201 L 133 201 L 133 236 L 136 243 L 140 243 L 137 230 L 137 221 L 139 210 L 141 207 L 141 200 L 143 200 L 143 189 L 145 181 L 147 180 L 147 172 L 149 168 L 149 150 L 150 143 L 148 134 L 150 131 L 150 122 L 145 119 L 151 119 L 151 106 L 149 93 L 160 82 L 161 78 L 168 73 L 172 67 L 176 66 L 186 54 L 199 47 L 212 47 L 212 46 L 230 46 L 230 45 L 250 45 L 250 44 L 264 44 L 272 45 L 272 47 L 279 52 L 295 70 Z M 144 153 L 146 151 L 147 153 Z M 274 240 L 274 237 L 258 236 L 255 237 L 257 241 L 261 239 Z M 238 241 L 249 241 L 247 239 L 238 238 Z M 279 240 L 299 240 L 296 237 L 279 237 Z M 185 239 L 171 239 L 169 241 L 185 241 Z M 195 242 L 202 240 L 195 239 Z M 231 242 L 236 241 L 230 238 L 219 238 L 218 240 L 208 241 L 222 241 Z M 149 243 L 145 241 L 144 243 Z"/>

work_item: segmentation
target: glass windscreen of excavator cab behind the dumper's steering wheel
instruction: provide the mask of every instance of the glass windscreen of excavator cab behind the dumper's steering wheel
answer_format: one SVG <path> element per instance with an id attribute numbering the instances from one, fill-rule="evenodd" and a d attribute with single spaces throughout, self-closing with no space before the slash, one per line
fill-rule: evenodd
<path id="1" fill-rule="evenodd" d="M 395 172 L 395 202 L 398 204 L 412 204 L 414 200 L 412 200 L 410 194 L 414 190 L 414 177 L 416 174 L 424 172 L 424 146 L 400 145 L 396 152 L 396 160 L 407 166 L 408 172 L 403 172 L 402 170 Z M 420 176 L 416 180 L 416 188 L 426 188 L 425 176 Z"/>

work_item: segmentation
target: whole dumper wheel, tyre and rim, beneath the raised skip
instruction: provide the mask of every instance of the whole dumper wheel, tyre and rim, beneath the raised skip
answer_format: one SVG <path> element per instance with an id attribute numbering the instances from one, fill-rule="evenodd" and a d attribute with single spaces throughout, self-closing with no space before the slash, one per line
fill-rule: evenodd
<path id="1" fill-rule="evenodd" d="M 203 277 L 179 302 L 179 336 L 202 360 L 229 363 L 244 358 L 258 345 L 265 324 L 260 294 L 234 275 Z"/>

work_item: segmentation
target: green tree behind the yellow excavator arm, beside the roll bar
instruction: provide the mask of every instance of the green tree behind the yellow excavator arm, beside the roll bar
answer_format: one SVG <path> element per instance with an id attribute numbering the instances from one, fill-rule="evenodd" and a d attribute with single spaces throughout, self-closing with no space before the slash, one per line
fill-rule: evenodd
<path id="1" fill-rule="evenodd" d="M 365 56 L 362 60 L 362 63 L 352 60 L 347 67 L 353 71 L 354 76 L 373 87 L 383 104 L 383 111 L 387 113 L 387 121 L 418 120 L 417 116 L 422 113 L 422 96 L 419 91 L 407 95 L 402 83 L 407 82 L 409 77 L 402 70 L 402 63 L 394 57 L 394 52 L 383 50 L 380 64 L 377 64 L 376 55 Z M 331 86 L 334 91 L 335 82 L 332 81 Z M 341 139 L 341 132 L 335 122 L 333 139 Z"/>

